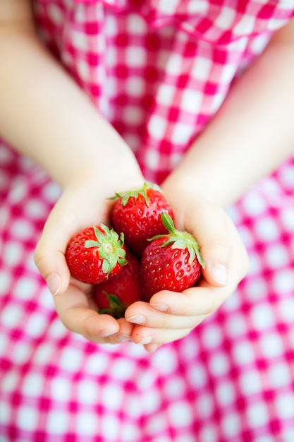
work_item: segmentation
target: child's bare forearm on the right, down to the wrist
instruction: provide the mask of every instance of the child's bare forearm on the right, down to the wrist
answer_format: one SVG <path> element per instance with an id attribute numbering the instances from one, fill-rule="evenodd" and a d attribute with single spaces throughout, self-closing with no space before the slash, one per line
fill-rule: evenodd
<path id="1" fill-rule="evenodd" d="M 168 181 L 226 206 L 273 172 L 294 153 L 293 78 L 294 19 L 235 83 Z"/>

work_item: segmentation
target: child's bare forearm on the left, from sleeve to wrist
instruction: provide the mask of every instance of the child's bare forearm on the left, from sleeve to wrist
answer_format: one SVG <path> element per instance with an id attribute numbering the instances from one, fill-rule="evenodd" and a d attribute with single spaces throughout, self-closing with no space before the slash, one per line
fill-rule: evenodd
<path id="1" fill-rule="evenodd" d="M 137 181 L 133 153 L 39 42 L 29 0 L 0 2 L 0 65 L 0 133 L 21 153 L 63 187 L 81 169 L 111 172 L 114 155 Z"/>

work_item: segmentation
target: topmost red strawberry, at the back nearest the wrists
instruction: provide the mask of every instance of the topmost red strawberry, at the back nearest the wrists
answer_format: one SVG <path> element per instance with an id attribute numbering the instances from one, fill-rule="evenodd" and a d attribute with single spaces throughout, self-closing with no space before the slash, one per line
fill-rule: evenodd
<path id="1" fill-rule="evenodd" d="M 123 232 L 125 246 L 137 256 L 142 256 L 148 239 L 167 233 L 161 213 L 173 212 L 159 186 L 145 183 L 141 189 L 116 193 L 118 198 L 112 210 L 112 223 L 116 232 Z M 114 199 L 111 198 L 111 199 Z"/>

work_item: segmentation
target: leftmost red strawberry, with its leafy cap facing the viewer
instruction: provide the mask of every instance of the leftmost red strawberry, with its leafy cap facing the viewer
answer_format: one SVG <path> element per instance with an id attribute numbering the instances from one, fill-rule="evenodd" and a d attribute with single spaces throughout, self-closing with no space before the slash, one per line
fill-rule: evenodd
<path id="1" fill-rule="evenodd" d="M 68 243 L 66 262 L 77 280 L 89 284 L 108 280 L 126 263 L 123 235 L 103 224 L 82 229 Z"/>

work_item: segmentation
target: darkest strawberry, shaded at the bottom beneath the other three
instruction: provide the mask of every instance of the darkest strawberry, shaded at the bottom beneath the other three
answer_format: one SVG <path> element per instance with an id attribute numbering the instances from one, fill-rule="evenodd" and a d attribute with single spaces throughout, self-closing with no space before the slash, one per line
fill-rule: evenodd
<path id="1" fill-rule="evenodd" d="M 140 261 L 130 251 L 127 251 L 125 259 L 127 263 L 121 273 L 94 286 L 99 313 L 107 313 L 117 319 L 123 318 L 125 309 L 142 297 Z"/>

